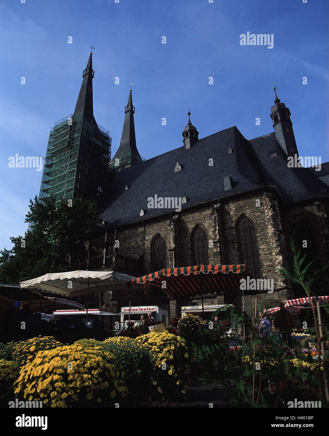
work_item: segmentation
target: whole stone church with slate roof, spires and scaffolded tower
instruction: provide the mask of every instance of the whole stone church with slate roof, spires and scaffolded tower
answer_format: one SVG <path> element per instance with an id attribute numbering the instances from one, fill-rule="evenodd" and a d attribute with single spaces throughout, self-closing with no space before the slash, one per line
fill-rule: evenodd
<path id="1" fill-rule="evenodd" d="M 94 119 L 93 77 L 91 53 L 74 113 L 50 133 L 39 197 L 97 199 L 102 226 L 79 242 L 74 269 L 139 277 L 164 268 L 245 264 L 256 279 L 273 280 L 272 292 L 259 291 L 260 306 L 304 296 L 281 269 L 292 269 L 292 241 L 306 264 L 317 259 L 311 269 L 329 263 L 329 162 L 291 165 L 299 153 L 291 113 L 276 89 L 271 133 L 248 140 L 232 126 L 202 138 L 188 112 L 182 140 L 147 160 L 138 152 L 130 89 L 121 142 L 110 159 L 111 138 Z M 328 275 L 316 277 L 313 292 L 327 295 L 327 281 Z M 200 299 L 170 300 L 155 286 L 131 293 L 131 305 L 158 305 L 169 317 Z M 248 312 L 254 299 L 245 297 Z M 204 300 L 242 304 L 241 295 L 229 293 Z M 128 292 L 105 292 L 101 304 L 119 313 L 129 305 Z"/>

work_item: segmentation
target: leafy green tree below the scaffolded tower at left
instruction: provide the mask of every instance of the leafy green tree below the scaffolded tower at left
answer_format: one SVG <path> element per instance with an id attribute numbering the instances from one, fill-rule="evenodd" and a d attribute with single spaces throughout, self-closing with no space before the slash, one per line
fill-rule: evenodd
<path id="1" fill-rule="evenodd" d="M 11 237 L 13 248 L 0 250 L 0 282 L 17 284 L 47 272 L 73 269 L 78 243 L 101 224 L 94 201 L 54 196 L 30 200 L 25 222 L 34 223 L 24 236 Z"/>

